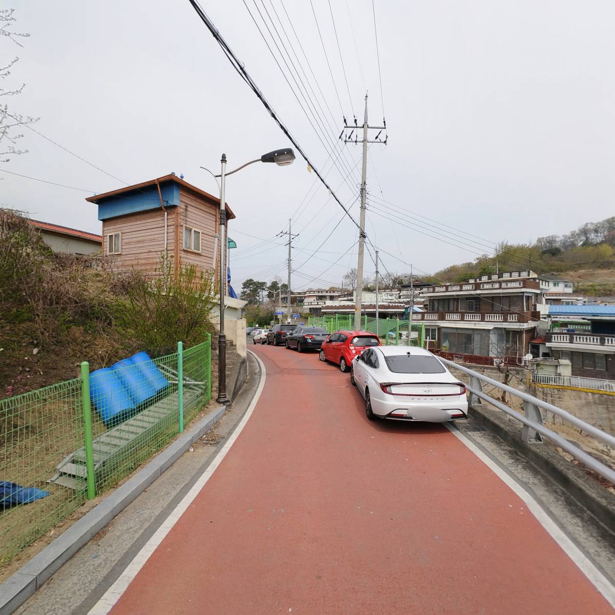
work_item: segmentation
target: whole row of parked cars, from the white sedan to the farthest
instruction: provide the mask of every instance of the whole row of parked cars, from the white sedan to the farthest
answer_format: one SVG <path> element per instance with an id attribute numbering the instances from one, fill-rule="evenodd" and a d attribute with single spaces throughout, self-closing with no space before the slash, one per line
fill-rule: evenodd
<path id="1" fill-rule="evenodd" d="M 321 361 L 349 371 L 370 420 L 446 423 L 467 418 L 466 386 L 423 348 L 383 346 L 371 331 L 340 330 L 329 335 L 321 327 L 295 325 L 274 325 L 261 333 L 260 341 L 298 352 L 318 350 Z"/>

